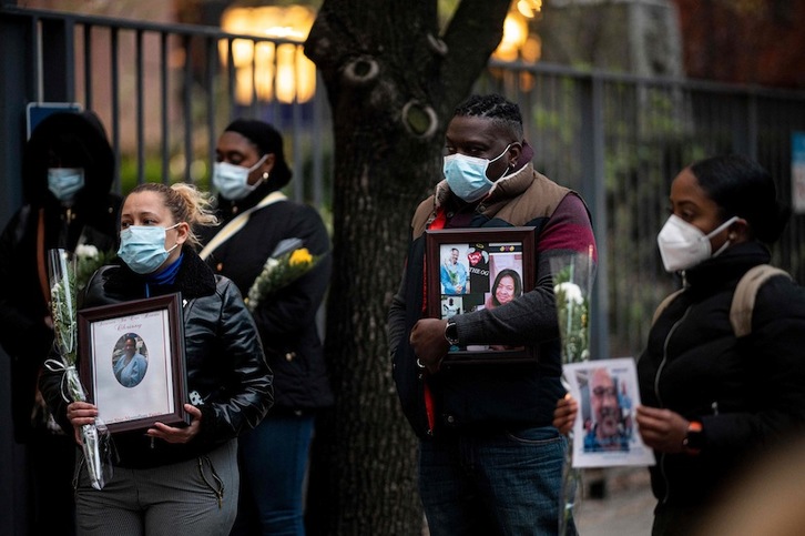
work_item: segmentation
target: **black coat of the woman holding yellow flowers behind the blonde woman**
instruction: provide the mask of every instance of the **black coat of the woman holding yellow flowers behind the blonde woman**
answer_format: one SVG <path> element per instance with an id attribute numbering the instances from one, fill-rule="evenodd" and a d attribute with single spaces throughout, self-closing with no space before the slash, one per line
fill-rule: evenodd
<path id="1" fill-rule="evenodd" d="M 242 201 L 220 198 L 222 224 L 216 231 L 271 191 L 271 183 L 263 183 Z M 305 275 L 263 300 L 253 313 L 266 361 L 274 372 L 272 414 L 333 404 L 324 346 L 316 325 L 316 313 L 327 291 L 333 264 L 327 229 L 315 209 L 286 199 L 253 212 L 245 226 L 207 259 L 215 273 L 231 279 L 247 296 L 276 245 L 292 237 L 300 239 L 304 247 L 320 260 Z"/>

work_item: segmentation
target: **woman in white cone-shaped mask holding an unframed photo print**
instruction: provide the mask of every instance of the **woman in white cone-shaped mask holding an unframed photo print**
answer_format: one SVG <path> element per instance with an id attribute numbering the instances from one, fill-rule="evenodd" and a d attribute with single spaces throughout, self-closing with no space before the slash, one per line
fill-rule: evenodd
<path id="1" fill-rule="evenodd" d="M 788 210 L 740 155 L 693 163 L 671 185 L 658 244 L 683 292 L 659 314 L 638 361 L 636 423 L 654 449 L 654 536 L 687 535 L 757 456 L 805 431 L 805 290 L 784 275 L 757 291 L 752 330 L 730 306 L 742 276 L 771 261 Z M 568 429 L 574 403 L 560 402 Z"/>

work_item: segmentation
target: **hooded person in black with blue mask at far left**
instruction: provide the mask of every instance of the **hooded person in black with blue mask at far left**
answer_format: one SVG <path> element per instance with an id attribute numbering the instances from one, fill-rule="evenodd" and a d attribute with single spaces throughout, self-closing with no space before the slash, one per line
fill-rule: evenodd
<path id="1" fill-rule="evenodd" d="M 14 438 L 26 445 L 31 534 L 43 533 L 51 518 L 73 516 L 73 439 L 37 391 L 53 343 L 47 252 L 113 253 L 121 202 L 110 193 L 113 179 L 114 153 L 93 112 L 47 117 L 24 146 L 24 204 L 0 236 L 0 344 L 11 357 Z M 60 526 L 72 534 L 72 523 Z"/>

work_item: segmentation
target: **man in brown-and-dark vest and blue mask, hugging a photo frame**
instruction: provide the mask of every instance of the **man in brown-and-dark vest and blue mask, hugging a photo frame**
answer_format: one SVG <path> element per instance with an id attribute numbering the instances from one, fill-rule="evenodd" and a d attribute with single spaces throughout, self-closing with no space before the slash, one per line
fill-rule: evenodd
<path id="1" fill-rule="evenodd" d="M 473 95 L 446 133 L 445 180 L 417 208 L 388 322 L 394 378 L 420 438 L 430 534 L 554 534 L 567 442 L 551 426 L 560 383 L 550 259 L 595 259 L 582 199 L 534 171 L 517 104 Z M 426 230 L 533 226 L 536 285 L 510 303 L 427 318 Z M 442 363 L 454 345 L 526 347 L 519 363 Z M 569 532 L 574 532 L 572 523 Z"/>

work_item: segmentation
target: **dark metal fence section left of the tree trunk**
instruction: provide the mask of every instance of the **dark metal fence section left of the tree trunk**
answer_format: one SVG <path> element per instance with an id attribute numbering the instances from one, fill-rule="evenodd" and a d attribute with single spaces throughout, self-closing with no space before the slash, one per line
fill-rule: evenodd
<path id="1" fill-rule="evenodd" d="M 295 171 L 303 178 L 292 183 L 292 195 L 317 206 L 327 203 L 332 129 L 325 92 L 306 102 L 295 95 L 279 102 L 261 99 L 252 83 L 245 93 L 249 102 L 242 103 L 237 87 L 238 49 L 252 51 L 247 78 L 276 93 L 284 68 L 279 58 L 288 55 L 279 51 L 291 48 L 292 57 L 303 57 L 299 42 L 13 7 L 0 17 L 21 29 L 22 42 L 14 44 L 30 58 L 20 97 L 78 102 L 99 113 L 118 156 L 119 191 L 153 181 L 206 185 L 217 136 L 231 119 L 244 117 L 284 132 L 287 158 L 299 163 Z"/>

